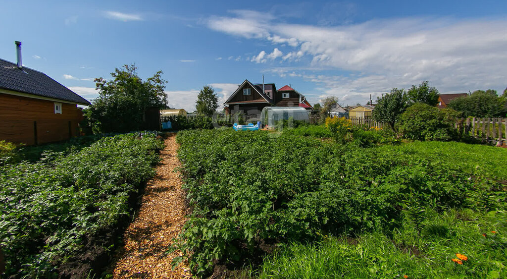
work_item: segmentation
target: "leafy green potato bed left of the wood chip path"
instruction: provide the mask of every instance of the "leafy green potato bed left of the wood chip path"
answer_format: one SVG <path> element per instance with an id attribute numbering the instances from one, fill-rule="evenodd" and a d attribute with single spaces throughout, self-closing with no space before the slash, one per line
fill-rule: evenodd
<path id="1" fill-rule="evenodd" d="M 99 230 L 115 229 L 127 199 L 154 175 L 153 133 L 104 137 L 79 152 L 0 167 L 0 246 L 6 275 L 51 277 Z"/>

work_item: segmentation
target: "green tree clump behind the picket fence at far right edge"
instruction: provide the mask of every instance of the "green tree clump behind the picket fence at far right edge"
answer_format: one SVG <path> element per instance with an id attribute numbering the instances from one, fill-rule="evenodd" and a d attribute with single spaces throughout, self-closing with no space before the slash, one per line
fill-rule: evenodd
<path id="1" fill-rule="evenodd" d="M 505 116 L 507 99 L 498 97 L 496 90 L 476 90 L 470 96 L 456 98 L 449 102 L 449 108 L 463 116 L 501 117 Z"/>

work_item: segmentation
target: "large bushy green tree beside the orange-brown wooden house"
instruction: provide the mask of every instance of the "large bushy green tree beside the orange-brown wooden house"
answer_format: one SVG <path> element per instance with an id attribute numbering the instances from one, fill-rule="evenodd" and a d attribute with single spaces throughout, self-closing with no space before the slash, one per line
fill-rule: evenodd
<path id="1" fill-rule="evenodd" d="M 112 79 L 96 78 L 99 96 L 92 100 L 86 116 L 94 132 L 126 132 L 139 130 L 148 108 L 167 106 L 162 71 L 143 81 L 134 64 L 115 68 Z"/>

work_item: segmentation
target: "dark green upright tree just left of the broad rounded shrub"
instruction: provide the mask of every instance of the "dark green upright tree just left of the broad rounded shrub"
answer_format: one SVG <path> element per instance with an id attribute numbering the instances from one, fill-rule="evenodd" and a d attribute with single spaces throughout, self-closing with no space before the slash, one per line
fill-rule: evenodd
<path id="1" fill-rule="evenodd" d="M 377 106 L 372 118 L 384 122 L 394 131 L 396 120 L 407 109 L 407 93 L 404 89 L 393 88 L 390 93 L 377 97 Z"/>

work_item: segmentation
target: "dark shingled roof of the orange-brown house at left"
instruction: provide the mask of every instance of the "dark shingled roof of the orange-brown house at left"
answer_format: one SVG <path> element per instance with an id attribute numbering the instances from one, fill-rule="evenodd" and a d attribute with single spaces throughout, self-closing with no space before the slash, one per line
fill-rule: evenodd
<path id="1" fill-rule="evenodd" d="M 0 88 L 50 97 L 88 106 L 89 101 L 34 69 L 0 59 Z"/>

